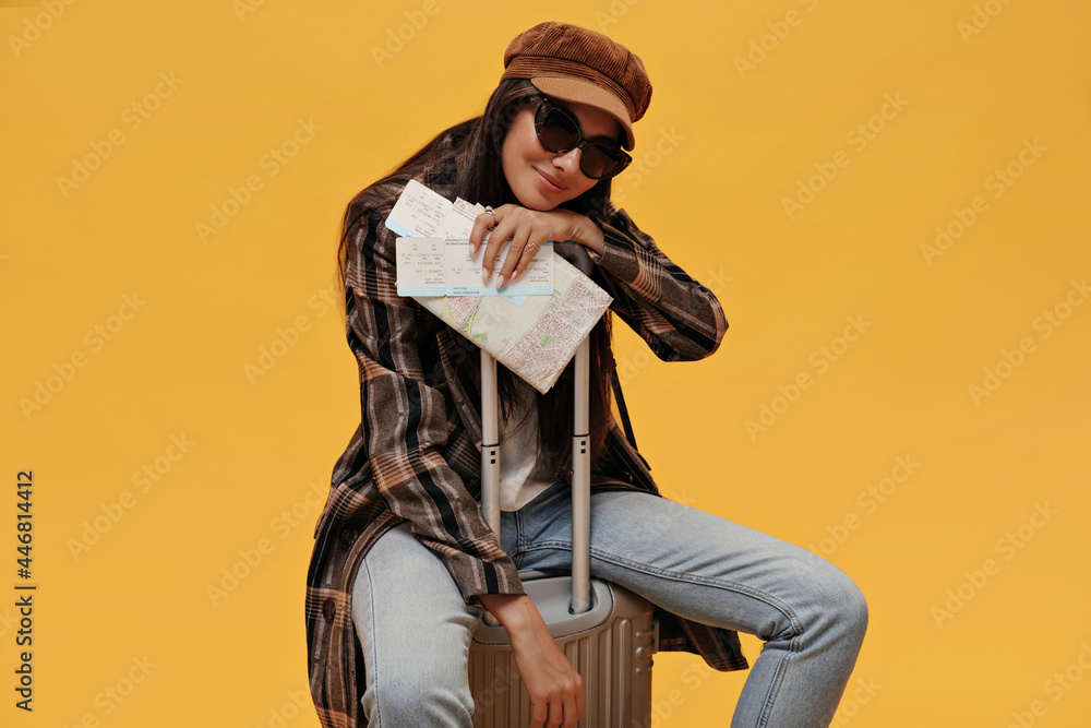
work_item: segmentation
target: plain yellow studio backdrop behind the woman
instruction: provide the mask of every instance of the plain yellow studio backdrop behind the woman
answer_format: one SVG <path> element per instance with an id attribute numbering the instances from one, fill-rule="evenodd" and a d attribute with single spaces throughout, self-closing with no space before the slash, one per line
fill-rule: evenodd
<path id="1" fill-rule="evenodd" d="M 309 701 L 292 703 L 307 689 L 312 488 L 324 498 L 359 421 L 343 320 L 322 298 L 341 214 L 432 134 L 479 114 L 507 41 L 549 19 L 644 59 L 655 95 L 618 196 L 731 324 L 716 356 L 671 366 L 618 327 L 637 440 L 666 492 L 824 552 L 861 585 L 871 626 L 839 725 L 1088 725 L 1091 677 L 1077 660 L 1091 665 L 1091 306 L 1065 305 L 1084 303 L 1072 282 L 1091 274 L 1091 7 L 240 7 L 0 3 L 4 725 L 317 726 Z M 739 62 L 747 55 L 753 68 Z M 156 107 L 137 128 L 133 104 Z M 300 119 L 320 128 L 272 175 L 263 158 Z M 878 131 L 860 148 L 852 132 L 868 123 Z M 112 130 L 123 142 L 62 190 L 58 178 Z M 836 177 L 810 182 L 820 191 L 790 217 L 783 200 L 839 151 Z M 994 196 L 990 178 L 1009 164 L 1021 175 Z M 261 189 L 202 241 L 196 224 L 250 176 Z M 936 227 L 957 230 L 979 195 L 984 212 L 926 260 Z M 125 296 L 143 301 L 135 313 Z M 1048 336 L 1047 310 L 1067 315 Z M 849 317 L 870 326 L 846 347 Z M 275 366 L 248 375 L 300 323 Z M 115 331 L 106 341 L 95 326 Z M 1024 338 L 1020 359 L 1010 351 Z M 1004 350 L 1020 366 L 1005 368 Z M 65 381 L 58 369 L 81 354 Z M 975 401 L 986 368 L 1006 377 Z M 788 402 L 801 373 L 812 385 Z M 21 402 L 50 377 L 57 391 L 27 415 Z M 781 411 L 752 437 L 763 405 Z M 173 461 L 172 435 L 192 443 Z M 898 457 L 919 466 L 865 508 Z M 132 478 L 144 466 L 159 470 L 142 492 Z M 33 714 L 12 690 L 25 468 Z M 1032 521 L 1035 504 L 1056 513 Z M 120 520 L 74 556 L 111 506 Z M 259 545 L 261 563 L 214 605 L 207 586 L 244 573 L 240 550 Z M 937 617 L 960 587 L 969 600 Z M 756 658 L 756 640 L 744 647 Z M 145 657 L 154 668 L 134 667 Z M 684 679 L 694 665 L 657 658 L 655 725 L 728 723 L 746 673 Z M 142 681 L 112 701 L 107 689 L 128 691 L 131 672 Z"/>

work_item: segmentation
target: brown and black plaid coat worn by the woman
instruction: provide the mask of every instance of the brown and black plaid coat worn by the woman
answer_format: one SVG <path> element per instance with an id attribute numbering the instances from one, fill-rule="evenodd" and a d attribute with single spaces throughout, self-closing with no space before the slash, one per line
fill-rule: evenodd
<path id="1" fill-rule="evenodd" d="M 406 181 L 388 182 L 379 206 L 369 207 L 358 196 L 345 215 L 346 334 L 359 365 L 361 422 L 334 467 L 307 574 L 308 670 L 324 728 L 367 725 L 360 705 L 363 658 L 350 598 L 360 560 L 387 529 L 409 521 L 468 602 L 481 594 L 525 593 L 477 500 L 480 398 L 475 382 L 457 371 L 478 349 L 415 300 L 397 295 L 397 236 L 383 220 Z M 449 196 L 445 181 L 423 180 Z M 604 251 L 592 258 L 596 283 L 614 299 L 611 310 L 660 359 L 712 354 L 728 327 L 719 301 L 628 215 L 612 206 L 609 213 Z M 612 418 L 604 450 L 592 466 L 594 488 L 659 494 L 644 458 Z M 718 670 L 748 667 L 735 632 L 662 609 L 656 616 L 660 649 L 698 653 Z"/>

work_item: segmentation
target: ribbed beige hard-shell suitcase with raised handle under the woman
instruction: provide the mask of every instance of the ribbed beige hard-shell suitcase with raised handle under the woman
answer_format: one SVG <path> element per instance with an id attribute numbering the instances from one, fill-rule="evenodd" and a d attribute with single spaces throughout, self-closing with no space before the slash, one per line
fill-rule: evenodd
<path id="1" fill-rule="evenodd" d="M 574 246 L 584 273 L 590 259 Z M 520 571 L 527 595 L 584 684 L 580 728 L 646 728 L 651 717 L 651 666 L 658 649 L 654 606 L 632 592 L 590 578 L 590 453 L 588 367 L 584 339 L 575 355 L 575 427 L 572 479 L 572 573 Z M 496 360 L 481 351 L 481 502 L 500 529 L 500 445 Z M 507 633 L 490 616 L 478 623 L 470 645 L 475 728 L 523 728 L 530 724 L 530 696 L 519 679 Z"/>

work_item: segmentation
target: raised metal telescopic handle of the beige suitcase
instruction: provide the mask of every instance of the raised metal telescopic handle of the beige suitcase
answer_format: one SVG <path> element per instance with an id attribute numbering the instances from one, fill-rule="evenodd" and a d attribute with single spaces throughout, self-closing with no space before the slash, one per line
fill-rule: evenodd
<path id="1" fill-rule="evenodd" d="M 583 246 L 555 243 L 554 249 L 582 273 L 590 275 L 590 256 Z M 584 337 L 574 357 L 575 393 L 572 437 L 572 606 L 574 614 L 591 608 L 591 454 L 588 409 L 590 343 Z M 481 349 L 481 510 L 500 535 L 500 422 L 496 359 Z M 490 622 L 494 620 L 489 618 Z"/>

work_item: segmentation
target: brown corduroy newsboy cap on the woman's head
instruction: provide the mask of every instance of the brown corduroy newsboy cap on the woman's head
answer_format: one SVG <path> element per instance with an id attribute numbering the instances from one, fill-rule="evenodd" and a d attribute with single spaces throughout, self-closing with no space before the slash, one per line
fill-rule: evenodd
<path id="1" fill-rule="evenodd" d="M 632 150 L 633 123 L 651 103 L 644 62 L 601 33 L 567 23 L 539 23 L 504 51 L 504 79 L 529 79 L 543 94 L 587 104 L 618 119 Z"/>

